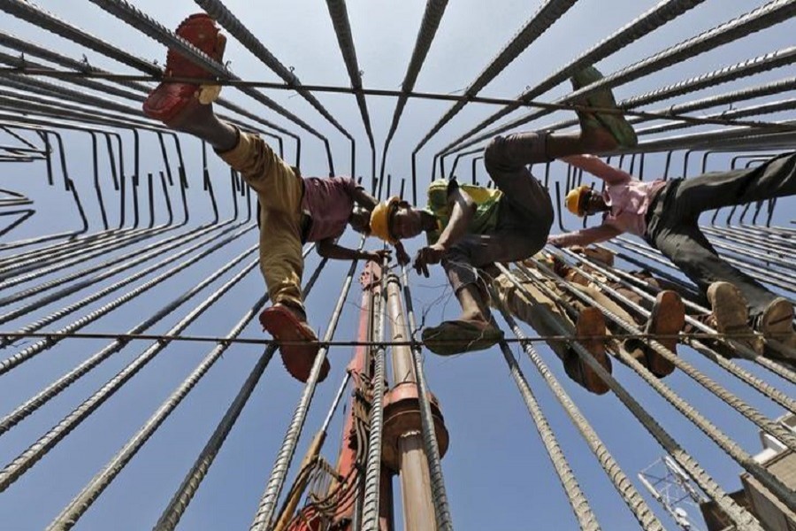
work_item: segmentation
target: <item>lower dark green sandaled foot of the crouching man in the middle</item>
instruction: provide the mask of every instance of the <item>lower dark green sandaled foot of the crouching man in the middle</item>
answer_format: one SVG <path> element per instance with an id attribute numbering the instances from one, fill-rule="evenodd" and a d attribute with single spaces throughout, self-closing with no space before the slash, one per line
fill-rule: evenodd
<path id="1" fill-rule="evenodd" d="M 423 329 L 425 347 L 440 356 L 486 350 L 501 339 L 503 332 L 482 319 L 447 320 Z"/>

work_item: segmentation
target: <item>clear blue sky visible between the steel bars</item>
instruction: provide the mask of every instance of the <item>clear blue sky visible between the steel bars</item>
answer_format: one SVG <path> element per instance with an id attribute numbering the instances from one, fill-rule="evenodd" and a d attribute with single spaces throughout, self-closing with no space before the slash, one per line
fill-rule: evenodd
<path id="1" fill-rule="evenodd" d="M 99 38 L 111 42 L 136 56 L 165 60 L 162 46 L 127 27 L 94 4 L 84 0 L 42 0 L 39 4 Z M 166 27 L 176 27 L 181 19 L 197 12 L 195 3 L 189 0 L 169 2 L 139 0 L 136 6 L 157 19 Z M 264 46 L 284 64 L 294 69 L 304 84 L 323 84 L 348 87 L 348 74 L 325 3 L 318 0 L 292 0 L 249 2 L 227 0 L 228 8 L 249 27 Z M 362 70 L 364 87 L 370 89 L 400 89 L 409 64 L 409 58 L 422 18 L 423 2 L 386 2 L 383 0 L 350 0 L 348 16 L 356 44 L 356 54 Z M 463 91 L 490 63 L 506 42 L 524 27 L 537 11 L 539 1 L 519 2 L 498 0 L 451 0 L 442 19 L 438 35 L 432 43 L 428 58 L 418 79 L 416 89 L 425 92 L 457 94 Z M 581 0 L 566 15 L 555 23 L 501 75 L 490 83 L 482 96 L 511 98 L 533 87 L 577 58 L 596 42 L 612 35 L 617 29 L 647 12 L 657 2 L 652 0 Z M 762 0 L 708 0 L 691 12 L 658 29 L 651 35 L 634 43 L 631 47 L 601 61 L 597 66 L 604 73 L 612 73 L 664 50 L 690 36 L 697 35 L 725 21 L 751 11 L 765 2 Z M 103 58 L 94 51 L 86 50 L 73 42 L 65 41 L 50 33 L 28 25 L 19 19 L 0 13 L 0 27 L 13 35 L 37 42 L 58 50 L 69 57 L 81 58 L 85 54 L 91 65 L 102 66 L 112 72 L 130 73 L 125 65 Z M 622 99 L 635 96 L 662 86 L 682 81 L 702 72 L 713 71 L 733 65 L 792 45 L 793 20 L 746 37 L 742 42 L 733 42 L 698 58 L 688 59 L 678 65 L 655 72 L 638 81 L 632 81 L 618 89 L 616 96 Z M 241 44 L 230 39 L 226 60 L 230 68 L 245 80 L 279 81 L 266 66 L 253 58 Z M 732 89 L 773 81 L 792 75 L 792 66 L 764 73 L 754 81 L 737 81 L 700 93 L 698 96 L 718 94 Z M 560 85 L 539 99 L 553 101 L 570 90 L 569 85 Z M 312 127 L 326 135 L 332 146 L 337 173 L 351 173 L 349 142 L 315 112 L 301 96 L 287 91 L 265 91 L 267 96 L 283 104 L 288 110 L 305 119 Z M 323 144 L 306 134 L 300 127 L 287 123 L 274 112 L 256 104 L 252 99 L 234 89 L 225 89 L 224 96 L 245 106 L 250 112 L 262 115 L 287 127 L 302 136 L 302 173 L 325 175 L 328 173 Z M 360 113 L 353 96 L 318 94 L 318 99 L 332 112 L 343 127 L 356 138 L 356 176 L 370 182 L 370 160 L 368 143 Z M 698 96 L 688 96 L 688 99 Z M 785 97 L 785 96 L 781 96 Z M 392 119 L 395 99 L 392 97 L 368 97 L 368 108 L 380 160 L 381 149 Z M 684 101 L 683 98 L 667 100 L 665 106 Z M 763 101 L 763 100 L 761 100 Z M 387 158 L 387 173 L 393 177 L 394 189 L 403 179 L 410 180 L 410 153 L 432 125 L 448 110 L 448 103 L 425 100 L 410 101 L 403 113 Z M 654 106 L 654 108 L 659 108 Z M 458 135 L 478 123 L 491 112 L 493 106 L 471 104 L 460 112 L 440 134 L 435 135 L 417 158 L 417 180 L 425 185 L 431 174 L 432 156 Z M 720 110 L 714 110 L 720 111 Z M 512 115 L 518 116 L 519 114 Z M 571 118 L 569 112 L 554 115 L 531 124 L 532 128 L 543 128 L 561 119 Z M 769 119 L 792 118 L 792 112 L 770 115 Z M 706 127 L 711 129 L 714 127 Z M 7 137 L 2 142 L 8 142 Z M 81 197 L 91 219 L 91 230 L 101 229 L 99 211 L 91 187 L 91 142 L 84 133 L 65 135 L 68 146 L 67 165 L 77 182 Z M 126 150 L 132 143 L 126 136 Z M 295 160 L 295 143 L 286 139 L 286 158 Z M 142 175 L 157 173 L 164 169 L 157 139 L 154 135 L 142 138 Z M 181 143 L 191 185 L 188 193 L 191 205 L 191 224 L 211 219 L 210 204 L 201 186 L 200 145 L 192 139 Z M 170 147 L 170 150 L 172 148 Z M 104 155 L 102 156 L 104 157 Z M 126 154 L 126 170 L 132 173 L 130 156 Z M 172 158 L 174 157 L 172 153 Z M 682 163 L 682 158 L 678 158 Z M 469 180 L 470 158 L 460 168 L 463 179 Z M 720 169 L 726 166 L 724 158 L 711 159 L 711 164 Z M 33 219 L 4 236 L 4 241 L 31 235 L 50 234 L 73 228 L 78 224 L 73 205 L 62 187 L 45 187 L 45 168 L 41 163 L 30 165 L 4 165 L 0 173 L 0 188 L 13 189 L 27 194 L 35 200 L 37 210 Z M 698 163 L 689 166 L 689 173 L 699 172 Z M 107 197 L 118 197 L 108 180 L 108 167 L 104 159 L 100 162 L 103 187 Z M 448 164 L 449 167 L 449 164 Z M 660 171 L 662 158 L 652 158 L 647 166 L 648 177 Z M 682 165 L 676 166 L 682 167 Z M 679 171 L 679 170 L 677 170 Z M 213 179 L 222 218 L 232 212 L 229 193 L 228 171 L 214 155 L 210 155 L 210 175 Z M 563 180 L 563 165 L 554 165 L 552 177 Z M 478 179 L 486 180 L 482 166 L 478 168 Z M 407 182 L 409 190 L 409 182 Z M 178 191 L 172 188 L 172 201 L 178 201 Z M 142 196 L 144 197 L 144 196 Z M 158 222 L 165 221 L 165 204 L 157 196 Z M 424 193 L 418 193 L 422 204 Z M 144 200 L 145 203 L 145 200 Z M 142 206 L 142 208 L 145 208 Z M 787 224 L 793 208 L 792 201 L 781 202 L 777 221 Z M 180 208 L 175 207 L 176 215 Z M 116 209 L 111 219 L 118 219 Z M 568 219 L 570 227 L 572 219 Z M 554 229 L 555 230 L 555 229 Z M 409 243 L 409 250 L 417 249 L 419 239 Z M 126 304 L 123 309 L 111 312 L 87 328 L 88 331 L 124 332 L 142 319 L 156 312 L 186 289 L 221 266 L 226 260 L 256 243 L 254 232 L 226 250 L 222 255 L 192 266 L 188 273 L 181 273 L 162 287 Z M 354 235 L 347 235 L 343 243 L 354 245 Z M 370 239 L 366 245 L 375 249 L 378 243 Z M 245 262 L 245 263 L 248 263 Z M 313 253 L 307 260 L 307 272 L 318 264 Z M 235 271 L 239 269 L 235 268 Z M 325 268 L 318 281 L 309 304 L 310 322 L 325 330 L 325 319 L 333 308 L 341 289 L 341 279 L 348 264 L 332 263 Z M 42 277 L 58 278 L 63 273 Z M 227 274 L 227 279 L 231 274 Z M 305 274 L 305 277 L 308 275 Z M 114 277 L 119 280 L 121 276 Z M 147 278 L 151 278 L 151 275 Z M 455 299 L 448 288 L 441 269 L 436 267 L 431 279 L 417 277 L 411 273 L 411 288 L 416 296 L 416 308 L 427 312 L 426 324 L 436 324 L 439 319 L 453 317 L 457 312 Z M 27 288 L 34 285 L 23 285 Z M 110 280 L 103 283 L 106 285 Z M 137 284 L 135 284 L 137 285 Z M 205 289 L 197 299 L 208 296 L 214 284 Z M 20 288 L 8 289 L 13 293 Z M 247 275 L 240 285 L 203 314 L 186 334 L 225 335 L 243 312 L 255 303 L 262 293 L 263 282 L 256 269 Z M 77 300 L 71 296 L 70 301 Z M 110 299 L 103 299 L 104 302 Z M 336 338 L 353 339 L 356 336 L 357 304 L 360 300 L 358 283 L 355 281 L 341 318 Z M 91 306 L 95 308 L 98 306 Z M 193 302 L 192 304 L 197 304 Z M 34 318 L 51 312 L 61 303 L 34 312 L 23 318 L 2 325 L 3 329 L 22 327 Z M 190 304 L 189 304 L 190 306 Z M 172 327 L 188 309 L 170 316 L 151 330 L 165 332 Z M 57 325 L 64 326 L 72 319 L 63 319 Z M 51 327 L 49 329 L 51 329 Z M 533 334 L 529 329 L 529 333 Z M 259 326 L 250 325 L 243 333 L 245 337 L 261 337 Z M 33 396 L 50 381 L 76 366 L 103 348 L 107 342 L 99 340 L 74 340 L 61 343 L 9 374 L 0 376 L 0 414 Z M 0 436 L 0 466 L 33 443 L 65 414 L 111 376 L 139 355 L 149 343 L 134 342 L 110 358 L 95 371 L 89 373 L 78 384 L 68 389 L 57 399 L 47 404 L 40 412 Z M 17 349 L 2 350 L 2 358 L 11 356 Z M 34 468 L 0 495 L 0 528 L 16 530 L 45 527 L 65 504 L 86 484 L 91 477 L 126 443 L 127 439 L 149 418 L 151 412 L 168 396 L 172 389 L 195 367 L 210 350 L 206 343 L 173 345 L 158 356 L 141 373 L 126 384 L 73 434 L 65 438 L 55 450 L 43 458 Z M 615 490 L 602 473 L 591 452 L 580 435 L 570 424 L 524 354 L 513 350 L 530 382 L 534 393 L 542 404 L 547 418 L 555 429 L 570 464 L 578 473 L 578 481 L 589 497 L 601 525 L 607 530 L 633 529 L 635 519 L 625 508 Z M 552 368 L 563 386 L 585 413 L 608 449 L 623 467 L 624 472 L 635 480 L 640 469 L 662 455 L 662 449 L 639 426 L 624 406 L 612 395 L 595 397 L 569 381 L 555 355 L 540 346 L 541 355 Z M 738 392 L 750 404 L 771 418 L 781 414 L 780 410 L 746 389 L 738 381 L 716 369 L 691 350 L 681 348 L 681 355 L 695 366 L 726 383 L 728 389 Z M 242 381 L 254 365 L 260 350 L 253 346 L 234 346 L 224 358 L 212 368 L 208 376 L 195 391 L 180 404 L 172 417 L 161 427 L 152 440 L 139 452 L 133 462 L 111 484 L 96 504 L 80 519 L 78 529 L 137 530 L 150 528 L 172 496 L 184 473 L 193 463 L 207 437 L 226 411 Z M 300 460 L 310 435 L 318 429 L 344 374 L 351 354 L 349 348 L 336 348 L 330 354 L 333 370 L 325 383 L 319 386 L 313 407 L 307 420 L 295 460 Z M 570 512 L 549 459 L 533 427 L 532 420 L 509 376 L 499 350 L 474 353 L 455 358 L 438 358 L 428 354 L 425 363 L 428 380 L 442 404 L 446 424 L 451 436 L 448 455 L 443 460 L 443 469 L 448 488 L 448 498 L 457 530 L 480 531 L 484 529 L 575 529 L 577 522 Z M 762 377 L 766 373 L 756 367 L 745 367 Z M 627 385 L 627 389 L 653 412 L 664 427 L 670 430 L 685 450 L 700 461 L 723 488 L 732 491 L 739 488 L 739 466 L 701 435 L 693 426 L 674 412 L 660 396 L 649 389 L 629 369 L 614 363 L 614 374 Z M 709 419 L 747 451 L 759 450 L 757 430 L 739 414 L 709 396 L 699 386 L 681 373 L 675 373 L 667 383 L 691 404 L 697 405 Z M 793 394 L 793 387 L 782 381 L 777 385 Z M 229 436 L 224 449 L 211 468 L 194 502 L 181 521 L 183 529 L 242 529 L 248 528 L 256 511 L 256 504 L 263 493 L 265 481 L 272 468 L 284 430 L 293 415 L 295 404 L 302 392 L 301 386 L 283 370 L 279 358 L 264 374 L 249 404 Z M 335 418 L 325 448 L 325 457 L 334 460 L 338 449 L 341 429 L 341 414 Z M 295 467 L 294 471 L 295 472 Z M 292 477 L 292 476 L 291 476 Z M 641 489 L 640 485 L 637 487 Z M 666 527 L 674 524 L 660 507 L 647 496 L 647 501 L 662 518 Z M 397 491 L 396 504 L 400 506 Z M 400 513 L 400 510 L 398 511 Z"/>

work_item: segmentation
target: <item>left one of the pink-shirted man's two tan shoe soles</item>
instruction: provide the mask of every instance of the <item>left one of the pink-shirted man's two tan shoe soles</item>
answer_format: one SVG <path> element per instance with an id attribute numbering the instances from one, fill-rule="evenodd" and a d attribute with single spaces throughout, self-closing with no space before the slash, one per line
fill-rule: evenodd
<path id="1" fill-rule="evenodd" d="M 716 331 L 762 354 L 762 338 L 749 326 L 746 299 L 730 282 L 714 282 L 708 287 L 708 300 L 716 320 Z"/>

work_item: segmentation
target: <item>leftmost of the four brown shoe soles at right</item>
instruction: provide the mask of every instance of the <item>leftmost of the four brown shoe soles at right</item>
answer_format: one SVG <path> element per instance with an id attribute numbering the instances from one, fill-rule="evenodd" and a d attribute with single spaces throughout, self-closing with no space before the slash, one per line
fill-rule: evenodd
<path id="1" fill-rule="evenodd" d="M 581 339 L 578 342 L 592 355 L 608 373 L 611 373 L 611 360 L 605 352 L 605 318 L 597 308 L 586 308 L 578 316 L 575 325 L 575 334 L 581 336 L 593 336 L 593 339 Z M 564 362 L 564 372 L 574 381 L 596 395 L 604 395 L 608 392 L 608 384 L 602 381 L 600 376 L 588 366 L 586 362 L 578 357 L 574 350 L 567 352 Z"/>

